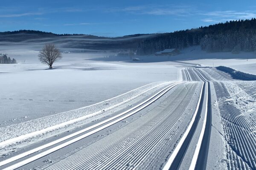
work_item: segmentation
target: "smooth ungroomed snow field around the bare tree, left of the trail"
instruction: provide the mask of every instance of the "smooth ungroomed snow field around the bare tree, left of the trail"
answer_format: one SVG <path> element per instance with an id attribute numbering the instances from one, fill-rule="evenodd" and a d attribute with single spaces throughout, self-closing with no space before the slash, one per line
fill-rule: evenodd
<path id="1" fill-rule="evenodd" d="M 52 70 L 38 61 L 37 51 L 1 51 L 18 64 L 0 65 L 0 126 L 92 105 L 134 88 L 177 79 L 170 63 L 102 62 L 106 54 L 63 54 Z M 128 60 L 128 59 L 127 59 Z M 178 64 L 176 64 L 178 65 Z"/>

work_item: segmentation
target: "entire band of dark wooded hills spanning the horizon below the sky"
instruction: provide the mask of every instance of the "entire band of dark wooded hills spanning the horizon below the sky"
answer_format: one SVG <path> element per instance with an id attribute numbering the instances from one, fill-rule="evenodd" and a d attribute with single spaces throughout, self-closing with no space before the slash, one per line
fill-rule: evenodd
<path id="1" fill-rule="evenodd" d="M 54 34 L 20 30 L 0 32 L 2 44 L 55 43 L 61 48 L 137 51 L 154 54 L 168 48 L 183 49 L 200 45 L 209 52 L 256 51 L 256 19 L 238 20 L 165 34 L 134 34 L 123 37 L 98 37 L 87 34 Z"/>

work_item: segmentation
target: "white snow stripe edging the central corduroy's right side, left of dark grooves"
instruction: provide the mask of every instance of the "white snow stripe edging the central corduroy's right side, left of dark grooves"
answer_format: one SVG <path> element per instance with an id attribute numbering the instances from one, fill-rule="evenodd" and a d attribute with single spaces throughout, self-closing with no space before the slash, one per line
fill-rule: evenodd
<path id="1" fill-rule="evenodd" d="M 174 161 L 175 157 L 177 156 L 177 153 L 179 152 L 183 142 L 185 141 L 186 137 L 189 134 L 189 131 L 191 130 L 191 127 L 192 127 L 193 123 L 195 122 L 195 117 L 197 115 L 197 112 L 198 112 L 198 109 L 199 109 L 199 105 L 200 105 L 200 101 L 201 101 L 201 97 L 202 97 L 202 93 L 203 93 L 204 83 L 203 83 L 203 85 L 201 87 L 201 92 L 200 92 L 200 96 L 199 96 L 199 99 L 198 99 L 198 105 L 197 105 L 197 107 L 195 109 L 194 116 L 192 117 L 192 120 L 189 123 L 189 126 L 188 126 L 187 130 L 185 131 L 185 133 L 183 134 L 182 138 L 180 139 L 180 142 L 177 144 L 177 146 L 175 147 L 175 150 L 173 151 L 172 155 L 170 156 L 170 158 L 166 162 L 165 166 L 163 167 L 163 170 L 169 170 L 170 169 L 170 167 L 172 165 L 172 162 Z"/>

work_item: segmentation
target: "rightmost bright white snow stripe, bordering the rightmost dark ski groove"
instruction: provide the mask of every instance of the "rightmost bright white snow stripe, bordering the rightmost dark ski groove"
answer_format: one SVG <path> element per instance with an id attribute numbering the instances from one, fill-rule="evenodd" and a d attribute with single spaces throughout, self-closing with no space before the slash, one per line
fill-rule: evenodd
<path id="1" fill-rule="evenodd" d="M 205 131 L 205 128 L 206 128 L 207 106 L 208 106 L 208 83 L 207 83 L 206 89 L 207 89 L 207 91 L 206 91 L 206 107 L 205 107 L 205 113 L 204 113 L 203 127 L 201 129 L 201 133 L 200 133 L 200 136 L 198 138 L 198 143 L 196 144 L 196 147 L 195 147 L 195 152 L 194 152 L 192 161 L 190 163 L 189 170 L 195 170 L 196 161 L 198 159 L 199 151 L 200 151 L 202 141 L 203 141 L 203 137 L 204 137 L 204 131 Z"/>

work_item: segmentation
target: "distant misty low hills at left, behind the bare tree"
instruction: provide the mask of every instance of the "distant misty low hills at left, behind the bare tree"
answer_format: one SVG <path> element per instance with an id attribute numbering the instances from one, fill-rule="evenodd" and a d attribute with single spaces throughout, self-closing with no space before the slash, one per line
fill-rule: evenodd
<path id="1" fill-rule="evenodd" d="M 33 45 L 40 50 L 42 43 L 53 43 L 59 48 L 95 51 L 135 51 L 141 40 L 156 34 L 134 34 L 123 37 L 98 37 L 90 34 L 54 34 L 35 30 L 0 32 L 0 43 Z"/>

